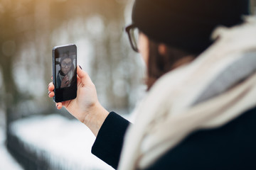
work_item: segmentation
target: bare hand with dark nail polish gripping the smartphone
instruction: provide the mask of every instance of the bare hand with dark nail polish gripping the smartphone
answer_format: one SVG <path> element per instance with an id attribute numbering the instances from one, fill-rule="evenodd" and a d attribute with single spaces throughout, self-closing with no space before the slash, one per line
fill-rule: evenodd
<path id="1" fill-rule="evenodd" d="M 77 97 L 70 101 L 63 101 L 55 103 L 58 109 L 63 106 L 80 122 L 85 123 L 93 134 L 97 136 L 97 132 L 100 130 L 102 123 L 107 118 L 108 111 L 105 110 L 97 99 L 97 91 L 95 85 L 92 83 L 89 75 L 83 72 L 78 67 L 78 92 Z M 48 96 L 52 98 L 54 96 L 54 85 L 50 82 L 48 85 Z"/>

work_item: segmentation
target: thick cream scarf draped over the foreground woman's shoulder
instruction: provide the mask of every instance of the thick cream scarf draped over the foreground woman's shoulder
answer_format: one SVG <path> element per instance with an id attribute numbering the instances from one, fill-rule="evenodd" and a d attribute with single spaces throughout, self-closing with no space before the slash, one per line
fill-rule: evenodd
<path id="1" fill-rule="evenodd" d="M 127 130 L 118 169 L 145 169 L 191 132 L 220 127 L 256 106 L 256 20 L 217 28 L 217 37 L 154 84 Z"/>

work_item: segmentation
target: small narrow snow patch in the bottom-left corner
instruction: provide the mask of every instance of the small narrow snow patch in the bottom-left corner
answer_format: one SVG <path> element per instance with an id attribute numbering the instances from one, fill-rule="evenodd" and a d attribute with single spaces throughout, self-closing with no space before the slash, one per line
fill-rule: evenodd
<path id="1" fill-rule="evenodd" d="M 22 170 L 23 168 L 11 157 L 6 149 L 4 142 L 6 140 L 4 128 L 0 126 L 0 169 L 5 170 Z"/>

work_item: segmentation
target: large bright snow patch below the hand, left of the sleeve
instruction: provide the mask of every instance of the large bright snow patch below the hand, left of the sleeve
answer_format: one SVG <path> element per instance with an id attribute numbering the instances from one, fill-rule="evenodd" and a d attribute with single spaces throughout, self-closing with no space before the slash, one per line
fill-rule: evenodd
<path id="1" fill-rule="evenodd" d="M 91 154 L 95 136 L 78 120 L 36 115 L 11 123 L 11 131 L 29 150 L 46 157 L 51 169 L 112 169 Z"/>

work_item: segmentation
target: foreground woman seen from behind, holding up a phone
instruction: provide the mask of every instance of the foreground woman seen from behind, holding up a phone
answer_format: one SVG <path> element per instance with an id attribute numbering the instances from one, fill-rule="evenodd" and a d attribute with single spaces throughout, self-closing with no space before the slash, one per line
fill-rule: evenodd
<path id="1" fill-rule="evenodd" d="M 255 169 L 256 26 L 219 29 L 210 41 L 247 11 L 244 0 L 135 1 L 126 30 L 146 63 L 149 93 L 134 125 L 100 105 L 82 68 L 78 97 L 57 108 L 92 130 L 92 154 L 115 169 Z"/>

